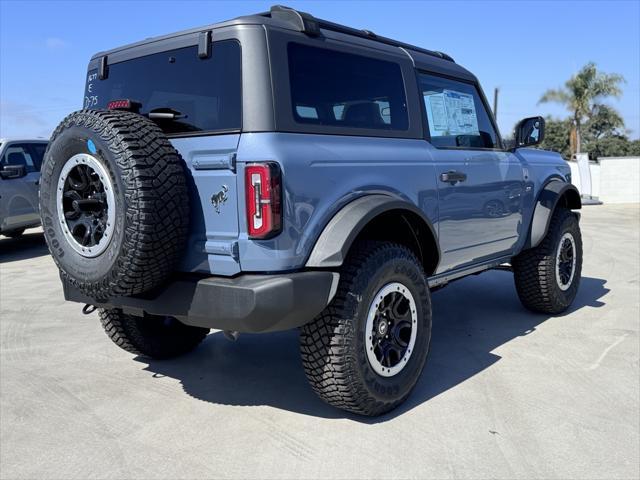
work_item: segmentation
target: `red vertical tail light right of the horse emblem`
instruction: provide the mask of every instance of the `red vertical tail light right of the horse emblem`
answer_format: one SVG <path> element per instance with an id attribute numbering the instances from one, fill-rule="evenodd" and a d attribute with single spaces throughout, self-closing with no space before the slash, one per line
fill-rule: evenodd
<path id="1" fill-rule="evenodd" d="M 277 163 L 251 163 L 244 170 L 249 238 L 264 239 L 282 228 L 282 177 Z"/>

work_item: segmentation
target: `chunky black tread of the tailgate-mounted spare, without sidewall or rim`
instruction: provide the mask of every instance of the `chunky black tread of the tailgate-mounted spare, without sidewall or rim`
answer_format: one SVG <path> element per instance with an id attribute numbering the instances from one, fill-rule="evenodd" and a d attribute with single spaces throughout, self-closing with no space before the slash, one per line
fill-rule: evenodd
<path id="1" fill-rule="evenodd" d="M 126 225 L 109 275 L 91 282 L 76 278 L 53 254 L 63 280 L 98 299 L 136 295 L 161 285 L 173 271 L 188 235 L 189 197 L 182 158 L 157 125 L 135 113 L 74 112 L 58 125 L 50 144 L 72 127 L 89 129 L 108 144 L 124 184 Z"/>

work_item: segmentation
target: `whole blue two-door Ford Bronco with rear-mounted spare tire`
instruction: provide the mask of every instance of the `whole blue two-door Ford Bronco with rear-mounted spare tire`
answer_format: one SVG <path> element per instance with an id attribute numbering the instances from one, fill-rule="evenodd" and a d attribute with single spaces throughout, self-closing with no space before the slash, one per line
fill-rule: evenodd
<path id="1" fill-rule="evenodd" d="M 530 310 L 574 300 L 581 201 L 543 136 L 526 118 L 506 145 L 444 53 L 275 6 L 94 55 L 42 224 L 121 348 L 299 328 L 315 392 L 379 415 L 423 370 L 430 291 L 506 268 Z"/>

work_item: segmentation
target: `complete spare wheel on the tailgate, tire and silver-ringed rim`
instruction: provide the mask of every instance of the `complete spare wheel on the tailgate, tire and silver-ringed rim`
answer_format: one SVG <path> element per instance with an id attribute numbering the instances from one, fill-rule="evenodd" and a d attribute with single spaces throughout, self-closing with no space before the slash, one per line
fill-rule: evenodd
<path id="1" fill-rule="evenodd" d="M 45 152 L 40 214 L 63 280 L 95 299 L 149 291 L 186 242 L 184 163 L 141 115 L 72 113 Z"/>

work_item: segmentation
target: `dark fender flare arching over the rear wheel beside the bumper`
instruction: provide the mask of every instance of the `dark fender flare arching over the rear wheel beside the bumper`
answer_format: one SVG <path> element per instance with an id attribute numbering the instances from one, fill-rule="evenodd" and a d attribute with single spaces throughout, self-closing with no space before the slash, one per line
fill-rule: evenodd
<path id="1" fill-rule="evenodd" d="M 345 205 L 327 223 L 316 241 L 306 266 L 335 268 L 342 265 L 359 238 L 388 240 L 409 247 L 427 275 L 436 271 L 440 247 L 433 225 L 415 205 L 374 194 Z"/>

